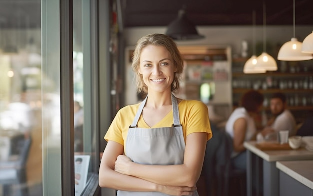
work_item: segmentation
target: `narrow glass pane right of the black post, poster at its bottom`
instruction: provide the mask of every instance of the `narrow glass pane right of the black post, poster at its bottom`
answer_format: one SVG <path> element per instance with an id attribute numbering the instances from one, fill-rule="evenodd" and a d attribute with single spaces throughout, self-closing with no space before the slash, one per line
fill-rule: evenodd
<path id="1" fill-rule="evenodd" d="M 92 172 L 90 1 L 73 1 L 75 196 L 80 196 Z M 91 166 L 91 167 L 89 167 Z"/>

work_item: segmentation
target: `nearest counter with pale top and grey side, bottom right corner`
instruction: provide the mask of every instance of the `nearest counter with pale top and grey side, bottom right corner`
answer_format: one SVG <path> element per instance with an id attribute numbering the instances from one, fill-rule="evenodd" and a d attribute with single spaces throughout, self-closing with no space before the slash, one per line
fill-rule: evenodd
<path id="1" fill-rule="evenodd" d="M 313 196 L 313 160 L 277 161 L 280 196 Z"/>

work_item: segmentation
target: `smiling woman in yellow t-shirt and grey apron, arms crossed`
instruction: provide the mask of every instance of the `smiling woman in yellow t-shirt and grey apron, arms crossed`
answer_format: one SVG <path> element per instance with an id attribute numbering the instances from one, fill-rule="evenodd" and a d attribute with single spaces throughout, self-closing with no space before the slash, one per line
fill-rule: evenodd
<path id="1" fill-rule="evenodd" d="M 163 34 L 138 40 L 132 68 L 148 96 L 118 111 L 104 139 L 99 185 L 118 196 L 197 196 L 206 142 L 212 137 L 205 104 L 176 98 L 183 60 Z"/>

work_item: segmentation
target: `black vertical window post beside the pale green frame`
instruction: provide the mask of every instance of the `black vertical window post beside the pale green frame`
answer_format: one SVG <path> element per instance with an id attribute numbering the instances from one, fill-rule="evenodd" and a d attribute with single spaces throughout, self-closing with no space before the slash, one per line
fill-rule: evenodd
<path id="1" fill-rule="evenodd" d="M 59 2 L 62 196 L 74 196 L 73 1 Z"/>

